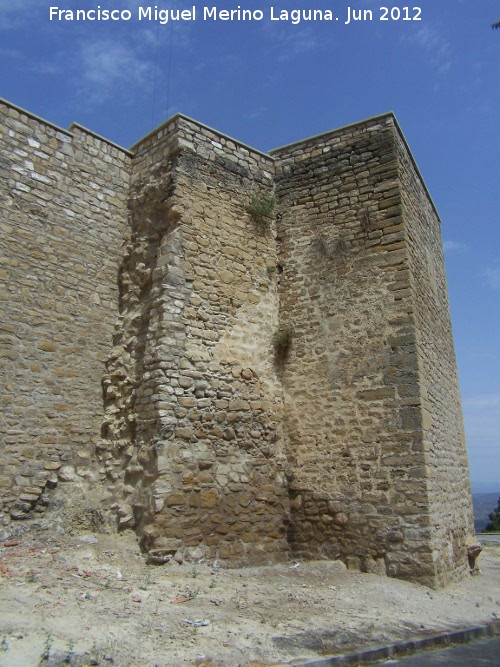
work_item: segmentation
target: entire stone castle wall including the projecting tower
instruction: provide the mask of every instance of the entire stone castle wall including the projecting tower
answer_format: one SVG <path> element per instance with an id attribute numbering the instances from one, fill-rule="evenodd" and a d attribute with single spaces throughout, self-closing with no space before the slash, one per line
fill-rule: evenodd
<path id="1" fill-rule="evenodd" d="M 98 486 L 160 560 L 461 576 L 439 220 L 394 117 L 269 156 L 180 115 L 127 152 L 2 109 L 12 516 L 55 471 Z M 275 197 L 272 216 L 253 197 Z"/>

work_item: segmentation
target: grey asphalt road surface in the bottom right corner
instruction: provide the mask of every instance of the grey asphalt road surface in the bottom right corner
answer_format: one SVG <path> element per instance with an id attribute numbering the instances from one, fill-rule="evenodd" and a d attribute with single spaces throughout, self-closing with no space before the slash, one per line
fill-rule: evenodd
<path id="1" fill-rule="evenodd" d="M 460 644 L 438 651 L 424 651 L 405 658 L 372 663 L 385 667 L 498 667 L 500 665 L 500 637 L 487 637 L 470 644 Z"/>

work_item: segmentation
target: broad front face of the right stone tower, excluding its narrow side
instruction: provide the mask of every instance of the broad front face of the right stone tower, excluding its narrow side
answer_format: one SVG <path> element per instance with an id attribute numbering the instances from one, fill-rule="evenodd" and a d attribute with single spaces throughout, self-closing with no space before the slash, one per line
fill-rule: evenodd
<path id="1" fill-rule="evenodd" d="M 273 153 L 281 313 L 298 332 L 284 374 L 291 541 L 304 555 L 425 578 L 428 501 L 395 133 L 387 116 Z"/>

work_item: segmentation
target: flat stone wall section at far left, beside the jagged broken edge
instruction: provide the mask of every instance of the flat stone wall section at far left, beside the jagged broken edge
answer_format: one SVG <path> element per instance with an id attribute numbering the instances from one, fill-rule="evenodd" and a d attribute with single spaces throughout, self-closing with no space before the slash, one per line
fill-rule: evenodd
<path id="1" fill-rule="evenodd" d="M 19 516 L 54 471 L 91 474 L 129 168 L 84 128 L 0 103 L 0 494 Z"/>

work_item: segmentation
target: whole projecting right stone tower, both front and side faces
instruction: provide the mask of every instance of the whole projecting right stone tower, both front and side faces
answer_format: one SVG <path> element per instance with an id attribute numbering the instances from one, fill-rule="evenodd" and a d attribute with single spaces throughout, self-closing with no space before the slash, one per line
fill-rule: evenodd
<path id="1" fill-rule="evenodd" d="M 460 578 L 473 526 L 432 200 L 390 114 L 272 155 L 281 325 L 297 333 L 283 364 L 303 499 L 292 547 L 349 567 L 383 558 L 430 585 Z"/>

